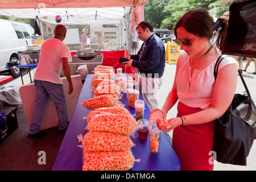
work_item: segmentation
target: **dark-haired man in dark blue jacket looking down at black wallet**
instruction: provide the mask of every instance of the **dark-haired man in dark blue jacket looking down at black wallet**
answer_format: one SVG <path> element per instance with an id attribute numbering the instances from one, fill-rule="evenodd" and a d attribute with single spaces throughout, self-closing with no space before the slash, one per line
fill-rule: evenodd
<path id="1" fill-rule="evenodd" d="M 158 108 L 159 86 L 162 85 L 166 53 L 162 40 L 153 32 L 151 23 L 143 21 L 137 27 L 138 37 L 144 41 L 136 55 L 126 56 L 127 67 L 139 69 L 140 93 L 150 110 Z"/>

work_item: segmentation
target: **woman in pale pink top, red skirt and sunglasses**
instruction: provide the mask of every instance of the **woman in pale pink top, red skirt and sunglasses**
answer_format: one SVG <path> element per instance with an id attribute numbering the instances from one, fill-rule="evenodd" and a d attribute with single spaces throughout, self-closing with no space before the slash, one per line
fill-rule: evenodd
<path id="1" fill-rule="evenodd" d="M 181 170 L 213 170 L 214 120 L 225 113 L 236 91 L 238 67 L 232 57 L 221 61 L 214 79 L 213 68 L 221 52 L 210 43 L 213 24 L 209 12 L 198 8 L 184 14 L 174 30 L 184 52 L 177 61 L 174 85 L 161 111 L 166 120 L 167 112 L 179 101 L 178 113 L 167 120 L 167 126 L 161 127 L 159 122 L 158 126 L 167 132 L 174 129 L 172 146 Z M 220 34 L 225 34 L 225 28 Z"/>

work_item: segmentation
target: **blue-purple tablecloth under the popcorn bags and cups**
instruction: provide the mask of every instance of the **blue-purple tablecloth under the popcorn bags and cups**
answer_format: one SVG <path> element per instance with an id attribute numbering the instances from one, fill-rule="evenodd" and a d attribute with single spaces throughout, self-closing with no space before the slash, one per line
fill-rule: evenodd
<path id="1" fill-rule="evenodd" d="M 77 135 L 82 134 L 83 136 L 88 132 L 85 130 L 86 120 L 82 119 L 90 110 L 86 109 L 81 103 L 89 98 L 92 98 L 93 93 L 91 91 L 93 75 L 88 75 L 82 87 L 79 99 L 77 101 L 75 110 L 71 121 L 69 122 L 68 129 L 65 133 L 65 137 L 61 144 L 59 154 L 57 155 L 53 171 L 81 171 L 82 170 L 82 148 L 77 147 L 81 145 Z M 143 99 L 139 96 L 139 99 Z M 135 114 L 135 109 L 127 105 L 126 94 L 121 98 L 126 109 L 131 114 Z M 150 110 L 145 105 L 144 118 L 148 119 L 150 116 Z M 138 138 L 138 133 L 135 138 L 131 138 L 135 143 L 135 147 L 131 148 L 135 159 L 141 159 L 141 162 L 135 162 L 133 171 L 159 171 L 159 170 L 180 170 L 180 161 L 172 148 L 170 142 L 166 136 L 162 133 L 160 142 L 159 152 L 152 153 L 149 150 L 149 138 L 141 140 Z"/>

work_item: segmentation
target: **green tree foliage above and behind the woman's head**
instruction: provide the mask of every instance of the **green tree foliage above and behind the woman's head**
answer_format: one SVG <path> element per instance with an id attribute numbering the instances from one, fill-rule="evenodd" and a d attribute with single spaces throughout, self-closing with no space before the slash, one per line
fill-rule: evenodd
<path id="1" fill-rule="evenodd" d="M 238 0 L 232 2 L 236 1 Z M 204 7 L 217 19 L 229 10 L 232 2 L 223 4 L 222 0 L 148 0 L 144 5 L 144 19 L 150 20 L 154 28 L 172 30 L 180 16 L 188 10 Z"/>

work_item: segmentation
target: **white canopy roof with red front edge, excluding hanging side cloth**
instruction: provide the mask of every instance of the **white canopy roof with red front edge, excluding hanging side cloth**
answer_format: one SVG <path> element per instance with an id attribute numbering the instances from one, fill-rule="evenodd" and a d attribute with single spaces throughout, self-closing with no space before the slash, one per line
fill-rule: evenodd
<path id="1" fill-rule="evenodd" d="M 145 2 L 147 0 L 1 0 L 0 15 L 32 19 L 38 16 L 39 20 L 51 23 L 56 23 L 55 16 L 60 15 L 65 24 L 72 21 L 106 23 L 122 20 L 130 13 L 130 7 L 143 6 Z"/>

